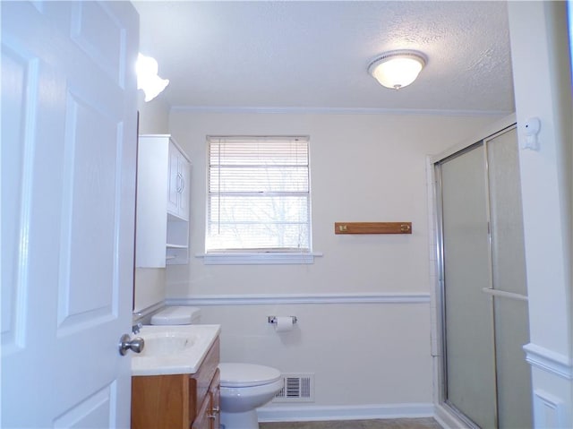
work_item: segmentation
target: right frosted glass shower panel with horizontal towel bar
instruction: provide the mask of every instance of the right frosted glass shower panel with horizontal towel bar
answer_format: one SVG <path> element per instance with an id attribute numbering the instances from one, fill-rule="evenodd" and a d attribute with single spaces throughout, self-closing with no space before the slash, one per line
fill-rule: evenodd
<path id="1" fill-rule="evenodd" d="M 500 428 L 533 427 L 526 256 L 517 131 L 485 142 L 492 226 L 492 291 Z"/>

